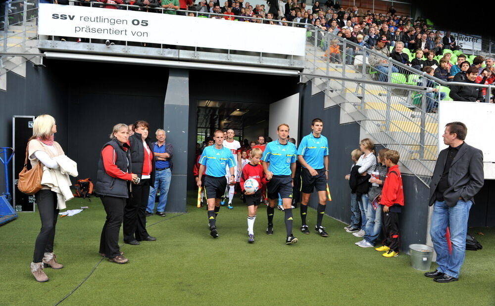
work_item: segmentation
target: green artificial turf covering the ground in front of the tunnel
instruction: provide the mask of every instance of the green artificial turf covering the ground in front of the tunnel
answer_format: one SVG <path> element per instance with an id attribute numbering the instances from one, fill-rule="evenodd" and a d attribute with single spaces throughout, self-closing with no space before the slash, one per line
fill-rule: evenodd
<path id="1" fill-rule="evenodd" d="M 55 253 L 65 267 L 46 268 L 47 283 L 37 283 L 29 270 L 39 214 L 21 213 L 0 227 L 0 305 L 54 305 L 71 292 L 61 305 L 495 304 L 493 228 L 469 230 L 484 232 L 475 235 L 483 250 L 466 252 L 460 281 L 439 284 L 411 268 L 405 254 L 387 259 L 355 246 L 358 239 L 340 221 L 325 217 L 329 236 L 320 237 L 314 210 L 308 211 L 309 235 L 298 230 L 294 211 L 299 242 L 287 246 L 283 213 L 275 212 L 275 233 L 268 236 L 266 206 L 260 206 L 251 245 L 247 209 L 237 200 L 235 209 L 220 210 L 220 237 L 213 239 L 205 209 L 196 208 L 194 194 L 189 199 L 187 214 L 148 217 L 148 232 L 157 240 L 124 245 L 129 262 L 122 265 L 99 257 L 105 219 L 99 199 L 71 200 L 68 209 L 90 208 L 58 219 Z"/>

